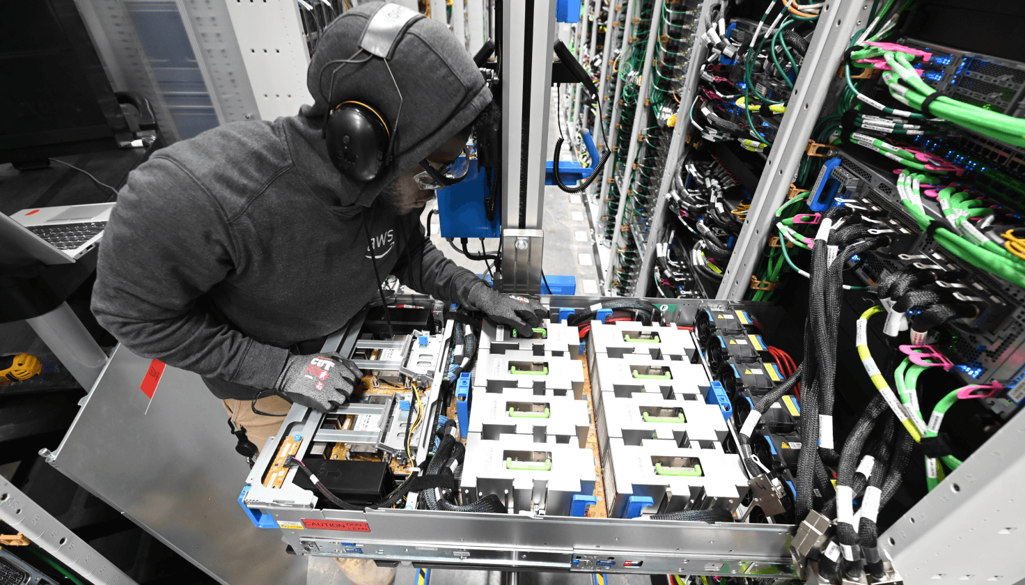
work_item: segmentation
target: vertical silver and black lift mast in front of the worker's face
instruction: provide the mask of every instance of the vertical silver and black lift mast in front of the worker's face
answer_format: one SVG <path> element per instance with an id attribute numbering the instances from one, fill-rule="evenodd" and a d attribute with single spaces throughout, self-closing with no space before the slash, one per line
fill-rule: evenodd
<path id="1" fill-rule="evenodd" d="M 556 0 L 502 3 L 502 292 L 541 290 Z"/>

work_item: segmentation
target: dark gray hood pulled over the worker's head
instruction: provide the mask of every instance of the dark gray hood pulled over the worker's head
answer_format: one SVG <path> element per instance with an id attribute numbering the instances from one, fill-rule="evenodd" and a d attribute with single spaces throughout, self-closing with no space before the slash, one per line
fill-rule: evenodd
<path id="1" fill-rule="evenodd" d="M 399 40 L 387 66 L 367 51 L 355 55 L 360 51 L 364 28 L 383 5 L 383 2 L 361 3 L 335 18 L 318 42 L 306 71 L 306 86 L 315 102 L 303 106 L 299 115 L 304 118 L 302 125 L 316 129 L 318 137 L 324 114 L 350 100 L 373 107 L 393 132 L 392 163 L 377 178 L 365 183 L 354 181 L 332 168 L 338 180 L 333 194 L 335 203 L 342 206 L 372 205 L 386 184 L 469 126 L 491 102 L 491 91 L 473 56 L 439 20 L 413 22 Z M 371 58 L 366 62 L 345 64 L 338 70 L 331 87 L 331 72 L 340 64 L 325 68 L 326 64 L 334 59 L 363 59 L 368 55 Z M 401 113 L 396 84 L 402 92 Z M 310 133 L 303 133 L 304 138 L 311 139 Z M 328 160 L 324 140 L 312 145 Z M 321 190 L 315 187 L 315 191 Z"/>

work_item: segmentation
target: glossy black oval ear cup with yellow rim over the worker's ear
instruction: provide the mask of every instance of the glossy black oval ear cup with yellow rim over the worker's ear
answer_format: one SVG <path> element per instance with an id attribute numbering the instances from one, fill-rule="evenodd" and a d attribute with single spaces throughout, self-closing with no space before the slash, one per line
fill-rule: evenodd
<path id="1" fill-rule="evenodd" d="M 331 163 L 353 180 L 373 180 L 384 167 L 387 128 L 369 108 L 355 102 L 336 108 L 327 119 L 324 139 Z"/>

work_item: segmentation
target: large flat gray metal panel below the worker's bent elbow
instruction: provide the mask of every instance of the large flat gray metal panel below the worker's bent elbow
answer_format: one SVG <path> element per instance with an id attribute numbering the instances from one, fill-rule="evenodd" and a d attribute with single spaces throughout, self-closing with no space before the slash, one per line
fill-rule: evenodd
<path id="1" fill-rule="evenodd" d="M 171 367 L 151 401 L 139 389 L 150 367 L 118 346 L 47 460 L 220 583 L 285 583 L 295 557 L 237 502 L 249 469 L 224 408 Z"/>

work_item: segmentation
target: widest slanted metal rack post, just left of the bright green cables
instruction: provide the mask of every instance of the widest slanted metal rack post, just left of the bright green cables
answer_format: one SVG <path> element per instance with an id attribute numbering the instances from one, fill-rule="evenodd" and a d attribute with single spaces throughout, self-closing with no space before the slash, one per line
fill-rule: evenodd
<path id="1" fill-rule="evenodd" d="M 726 268 L 715 298 L 742 300 L 751 276 L 762 258 L 776 210 L 786 199 L 796 176 L 801 157 L 808 144 L 831 82 L 836 77 L 844 51 L 854 32 L 868 23 L 868 2 L 826 2 L 815 27 L 805 66 L 787 101 L 787 112 L 773 140 L 751 208 L 733 248 L 733 260 Z"/>

